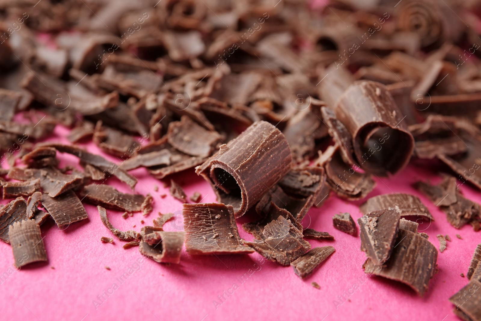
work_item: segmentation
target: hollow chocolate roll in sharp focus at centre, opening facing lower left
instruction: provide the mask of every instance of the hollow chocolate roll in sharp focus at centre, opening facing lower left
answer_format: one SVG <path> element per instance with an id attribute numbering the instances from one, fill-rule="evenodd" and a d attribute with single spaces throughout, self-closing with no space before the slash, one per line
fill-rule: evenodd
<path id="1" fill-rule="evenodd" d="M 232 205 L 236 218 L 252 207 L 291 169 L 289 143 L 275 126 L 258 121 L 196 167 L 217 201 Z"/>

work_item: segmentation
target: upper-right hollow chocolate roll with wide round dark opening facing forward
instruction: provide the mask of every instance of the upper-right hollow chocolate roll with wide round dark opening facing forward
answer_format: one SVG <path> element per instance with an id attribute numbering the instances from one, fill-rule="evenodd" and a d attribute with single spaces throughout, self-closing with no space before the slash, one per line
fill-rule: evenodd
<path id="1" fill-rule="evenodd" d="M 386 86 L 356 81 L 344 91 L 334 112 L 353 137 L 354 154 L 362 169 L 386 176 L 407 165 L 414 138 Z"/>

